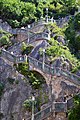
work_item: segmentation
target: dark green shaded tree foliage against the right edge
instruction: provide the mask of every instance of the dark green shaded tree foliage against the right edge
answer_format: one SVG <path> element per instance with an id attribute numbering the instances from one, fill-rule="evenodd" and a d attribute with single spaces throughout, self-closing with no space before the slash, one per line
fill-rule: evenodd
<path id="1" fill-rule="evenodd" d="M 70 20 L 69 26 L 65 31 L 66 38 L 68 40 L 68 46 L 72 53 L 80 58 L 80 13 L 77 14 L 73 19 Z M 78 55 L 79 54 L 79 55 Z"/>

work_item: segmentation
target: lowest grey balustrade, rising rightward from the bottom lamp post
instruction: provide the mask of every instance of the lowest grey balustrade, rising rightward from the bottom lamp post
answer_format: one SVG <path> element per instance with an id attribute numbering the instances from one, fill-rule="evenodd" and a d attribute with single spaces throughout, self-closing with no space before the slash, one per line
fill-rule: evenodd
<path id="1" fill-rule="evenodd" d="M 34 120 L 43 120 L 44 118 L 50 116 L 52 112 L 67 112 L 67 110 L 73 106 L 73 98 L 68 99 L 66 102 L 52 102 L 51 105 L 34 114 Z M 26 120 L 31 120 L 31 118 Z"/>

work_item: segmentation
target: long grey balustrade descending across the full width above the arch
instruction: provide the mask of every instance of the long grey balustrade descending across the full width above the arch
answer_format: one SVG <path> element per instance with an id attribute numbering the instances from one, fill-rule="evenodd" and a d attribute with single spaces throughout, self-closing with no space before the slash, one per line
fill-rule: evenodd
<path id="1" fill-rule="evenodd" d="M 27 58 L 29 61 L 29 65 L 38 68 L 40 70 L 42 70 L 43 72 L 47 73 L 47 74 L 51 74 L 51 75 L 57 75 L 57 76 L 65 76 L 68 78 L 68 80 L 72 83 L 75 83 L 76 85 L 80 86 L 80 77 L 70 73 L 67 70 L 61 69 L 61 68 L 53 68 L 47 64 L 44 63 L 44 68 L 43 68 L 43 63 L 38 61 L 35 58 L 32 58 L 30 56 L 15 56 L 12 53 L 10 53 L 9 51 L 6 51 L 5 49 L 2 49 L 2 57 L 8 59 L 11 62 L 14 63 L 23 63 L 26 62 Z"/>

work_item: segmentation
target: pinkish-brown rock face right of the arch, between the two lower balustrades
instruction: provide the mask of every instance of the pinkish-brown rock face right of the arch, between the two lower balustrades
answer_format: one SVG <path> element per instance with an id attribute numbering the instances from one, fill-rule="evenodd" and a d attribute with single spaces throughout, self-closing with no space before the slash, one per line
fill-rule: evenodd
<path id="1" fill-rule="evenodd" d="M 55 94 L 57 102 L 64 102 L 80 92 L 80 89 L 66 77 L 59 76 L 52 79 L 52 94 Z"/>

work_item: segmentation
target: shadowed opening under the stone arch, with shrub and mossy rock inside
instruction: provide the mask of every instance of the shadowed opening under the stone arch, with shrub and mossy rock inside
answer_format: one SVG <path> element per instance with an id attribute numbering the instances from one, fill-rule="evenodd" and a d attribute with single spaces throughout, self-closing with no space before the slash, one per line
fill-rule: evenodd
<path id="1" fill-rule="evenodd" d="M 32 86 L 32 92 L 35 92 L 34 95 L 37 100 L 38 108 L 40 109 L 42 106 L 47 105 L 49 103 L 49 87 L 44 76 L 38 71 L 31 70 L 29 83 Z"/>

